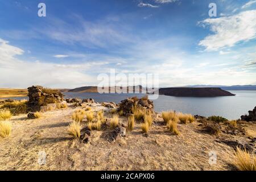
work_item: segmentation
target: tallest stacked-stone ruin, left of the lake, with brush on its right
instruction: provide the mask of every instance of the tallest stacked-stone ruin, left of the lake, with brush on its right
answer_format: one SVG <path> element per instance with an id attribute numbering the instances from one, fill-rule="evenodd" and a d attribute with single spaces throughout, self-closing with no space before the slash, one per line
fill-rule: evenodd
<path id="1" fill-rule="evenodd" d="M 40 111 L 48 104 L 56 105 L 63 101 L 63 94 L 59 90 L 46 89 L 43 86 L 31 86 L 28 89 L 28 110 Z"/>

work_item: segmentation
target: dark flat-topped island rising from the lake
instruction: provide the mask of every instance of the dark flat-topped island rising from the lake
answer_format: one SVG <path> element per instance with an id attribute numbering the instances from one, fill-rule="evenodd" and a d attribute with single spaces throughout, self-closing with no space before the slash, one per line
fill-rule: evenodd
<path id="1" fill-rule="evenodd" d="M 160 88 L 160 95 L 175 97 L 219 97 L 219 96 L 235 96 L 221 88 Z"/>

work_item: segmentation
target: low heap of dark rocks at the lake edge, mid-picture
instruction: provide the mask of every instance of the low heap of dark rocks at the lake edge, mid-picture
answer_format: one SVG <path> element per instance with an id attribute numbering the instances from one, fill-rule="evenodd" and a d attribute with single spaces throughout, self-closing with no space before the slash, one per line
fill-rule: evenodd
<path id="1" fill-rule="evenodd" d="M 123 110 L 123 114 L 132 114 L 133 113 L 133 105 L 137 105 L 137 107 L 146 109 L 154 112 L 154 104 L 153 101 L 148 100 L 147 97 L 137 98 L 130 97 L 126 98 L 126 100 L 121 101 L 117 111 Z"/>

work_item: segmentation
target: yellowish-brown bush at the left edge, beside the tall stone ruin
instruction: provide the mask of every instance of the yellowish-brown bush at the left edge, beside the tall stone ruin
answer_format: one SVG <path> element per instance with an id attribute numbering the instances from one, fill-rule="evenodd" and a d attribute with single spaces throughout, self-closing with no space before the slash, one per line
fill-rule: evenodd
<path id="1" fill-rule="evenodd" d="M 14 102 L 6 102 L 1 106 L 2 109 L 9 109 L 13 115 L 27 113 L 27 100 L 20 100 Z"/>

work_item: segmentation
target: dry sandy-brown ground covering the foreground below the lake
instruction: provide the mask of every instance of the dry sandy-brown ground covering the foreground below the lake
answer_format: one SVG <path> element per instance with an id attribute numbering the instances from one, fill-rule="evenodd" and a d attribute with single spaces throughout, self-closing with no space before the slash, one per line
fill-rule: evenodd
<path id="1" fill-rule="evenodd" d="M 0 138 L 1 170 L 233 170 L 233 148 L 217 141 L 216 136 L 201 131 L 199 122 L 178 124 L 180 135 L 166 131 L 157 116 L 148 137 L 140 125 L 125 138 L 109 142 L 103 136 L 109 130 L 92 131 L 89 143 L 74 140 L 67 133 L 71 115 L 80 107 L 43 113 L 39 119 L 26 115 L 10 119 L 13 130 L 9 138 Z M 99 109 L 95 106 L 93 109 Z M 107 117 L 111 118 L 112 114 Z M 86 119 L 82 125 L 86 125 Z M 120 119 L 127 123 L 126 118 Z M 256 137 L 256 125 L 243 125 L 250 138 Z M 249 140 L 223 134 L 233 140 Z M 46 163 L 40 156 L 46 152 Z M 217 155 L 216 164 L 209 164 L 210 152 Z M 42 163 L 41 163 L 42 164 Z"/>

